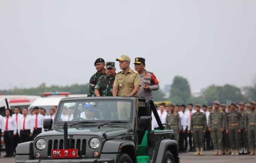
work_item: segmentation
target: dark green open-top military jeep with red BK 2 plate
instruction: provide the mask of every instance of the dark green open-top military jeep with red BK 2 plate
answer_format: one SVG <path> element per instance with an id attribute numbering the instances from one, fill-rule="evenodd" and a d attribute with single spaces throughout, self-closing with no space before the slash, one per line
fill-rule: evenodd
<path id="1" fill-rule="evenodd" d="M 138 108 L 143 116 L 138 101 L 145 103 Z M 160 129 L 151 129 L 151 114 Z M 64 98 L 54 121 L 45 119 L 43 125 L 45 132 L 18 144 L 16 163 L 180 162 L 174 132 L 161 123 L 151 99 Z"/>

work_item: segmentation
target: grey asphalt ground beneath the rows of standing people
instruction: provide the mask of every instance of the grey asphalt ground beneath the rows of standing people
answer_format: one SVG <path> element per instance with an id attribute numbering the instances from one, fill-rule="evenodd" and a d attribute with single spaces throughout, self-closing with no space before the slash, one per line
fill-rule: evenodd
<path id="1" fill-rule="evenodd" d="M 256 163 L 256 156 L 213 156 L 214 151 L 205 151 L 204 156 L 194 156 L 194 152 L 180 154 L 181 163 Z M 1 152 L 0 163 L 14 163 L 15 157 L 3 157 L 5 151 Z"/>

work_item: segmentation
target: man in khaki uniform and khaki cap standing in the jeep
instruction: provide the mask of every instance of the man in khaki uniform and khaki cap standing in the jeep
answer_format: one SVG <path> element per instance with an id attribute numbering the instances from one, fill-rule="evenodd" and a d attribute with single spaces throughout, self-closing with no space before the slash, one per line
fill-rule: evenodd
<path id="1" fill-rule="evenodd" d="M 141 86 L 141 81 L 139 73 L 130 68 L 131 59 L 127 55 L 122 55 L 120 58 L 116 59 L 119 61 L 120 69 L 123 70 L 115 76 L 115 81 L 113 85 L 113 96 L 131 96 L 138 97 L 139 87 Z M 117 103 L 118 117 L 121 120 L 130 117 L 131 106 L 127 106 L 124 103 Z M 138 102 L 137 102 L 138 111 Z"/>

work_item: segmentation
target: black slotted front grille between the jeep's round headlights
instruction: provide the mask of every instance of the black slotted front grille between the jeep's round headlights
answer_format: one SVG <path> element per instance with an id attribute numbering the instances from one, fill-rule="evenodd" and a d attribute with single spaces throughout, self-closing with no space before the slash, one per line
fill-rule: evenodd
<path id="1" fill-rule="evenodd" d="M 70 142 L 71 141 L 71 142 Z M 68 140 L 69 149 L 78 149 L 78 156 L 85 157 L 86 155 L 86 139 L 82 141 L 80 139 Z M 64 149 L 64 140 L 49 140 L 48 141 L 48 157 L 51 157 L 52 149 Z"/>

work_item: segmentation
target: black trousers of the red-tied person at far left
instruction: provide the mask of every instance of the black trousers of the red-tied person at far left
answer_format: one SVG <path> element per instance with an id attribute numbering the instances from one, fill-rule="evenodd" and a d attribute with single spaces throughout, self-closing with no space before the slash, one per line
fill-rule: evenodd
<path id="1" fill-rule="evenodd" d="M 12 131 L 5 131 L 4 133 L 4 141 L 5 141 L 5 150 L 6 155 L 10 156 L 13 155 L 14 148 L 13 148 L 13 130 Z"/>

